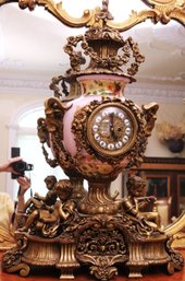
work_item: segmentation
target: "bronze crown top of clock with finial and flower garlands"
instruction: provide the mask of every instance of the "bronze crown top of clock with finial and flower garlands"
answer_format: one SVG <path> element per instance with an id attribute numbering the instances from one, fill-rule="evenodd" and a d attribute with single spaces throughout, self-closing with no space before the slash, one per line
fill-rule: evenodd
<path id="1" fill-rule="evenodd" d="M 70 56 L 71 69 L 66 71 L 66 79 L 79 74 L 110 73 L 130 77 L 133 81 L 145 60 L 137 43 L 132 37 L 124 40 L 116 28 L 107 25 L 107 21 L 113 19 L 108 11 L 108 0 L 102 1 L 101 10 L 97 9 L 95 19 L 85 35 L 67 38 L 64 51 Z M 81 51 L 77 48 L 79 43 Z M 83 69 L 87 58 L 90 62 Z"/>

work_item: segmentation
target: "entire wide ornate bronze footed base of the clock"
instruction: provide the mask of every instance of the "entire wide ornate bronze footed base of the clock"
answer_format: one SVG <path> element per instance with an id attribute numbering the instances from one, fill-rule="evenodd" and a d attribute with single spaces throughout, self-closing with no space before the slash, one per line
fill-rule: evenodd
<path id="1" fill-rule="evenodd" d="M 76 268 L 88 265 L 90 274 L 109 280 L 118 266 L 128 269 L 128 278 L 143 277 L 143 269 L 166 265 L 169 273 L 181 270 L 183 258 L 171 248 L 171 239 L 160 232 L 148 235 L 133 216 L 76 215 L 55 238 L 17 233 L 17 246 L 3 256 L 3 270 L 28 276 L 33 266 L 55 267 L 60 279 L 74 279 Z M 73 237 L 73 238 L 72 238 Z"/>

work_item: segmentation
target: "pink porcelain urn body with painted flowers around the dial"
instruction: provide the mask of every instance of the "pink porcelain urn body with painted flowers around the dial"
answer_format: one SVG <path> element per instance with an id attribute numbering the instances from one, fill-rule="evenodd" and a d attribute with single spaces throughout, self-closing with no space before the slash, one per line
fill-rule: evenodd
<path id="1" fill-rule="evenodd" d="M 130 79 L 114 75 L 84 75 L 79 77 L 78 82 L 82 86 L 82 96 L 69 102 L 72 107 L 64 114 L 63 118 L 63 136 L 65 150 L 75 156 L 77 149 L 74 134 L 71 130 L 72 122 L 76 110 L 86 106 L 92 101 L 101 101 L 102 96 L 119 97 L 124 102 L 123 91 Z M 121 166 L 127 165 L 127 159 L 123 159 Z M 85 150 L 78 159 L 78 167 L 82 173 L 91 169 L 92 174 L 109 174 L 113 172 L 112 165 L 102 163 L 95 155 L 89 155 Z"/>

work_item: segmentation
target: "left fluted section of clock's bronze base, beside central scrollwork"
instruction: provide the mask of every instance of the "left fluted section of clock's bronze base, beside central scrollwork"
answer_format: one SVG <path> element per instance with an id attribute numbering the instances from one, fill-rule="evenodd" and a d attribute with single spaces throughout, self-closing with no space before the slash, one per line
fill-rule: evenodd
<path id="1" fill-rule="evenodd" d="M 4 271 L 20 272 L 20 276 L 29 274 L 32 267 L 60 269 L 60 279 L 74 279 L 74 269 L 79 267 L 73 242 L 63 242 L 61 238 L 39 238 L 27 233 L 16 233 L 17 245 L 3 256 Z"/>

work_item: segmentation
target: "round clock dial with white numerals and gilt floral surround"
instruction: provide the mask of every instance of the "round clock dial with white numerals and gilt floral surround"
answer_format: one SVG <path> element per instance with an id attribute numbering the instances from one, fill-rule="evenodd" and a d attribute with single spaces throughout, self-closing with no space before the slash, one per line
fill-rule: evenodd
<path id="1" fill-rule="evenodd" d="M 81 107 L 72 124 L 77 153 L 85 150 L 101 161 L 112 163 L 122 161 L 134 148 L 137 154 L 136 143 L 141 128 L 140 112 L 135 104 L 118 98 L 92 101 Z"/>

